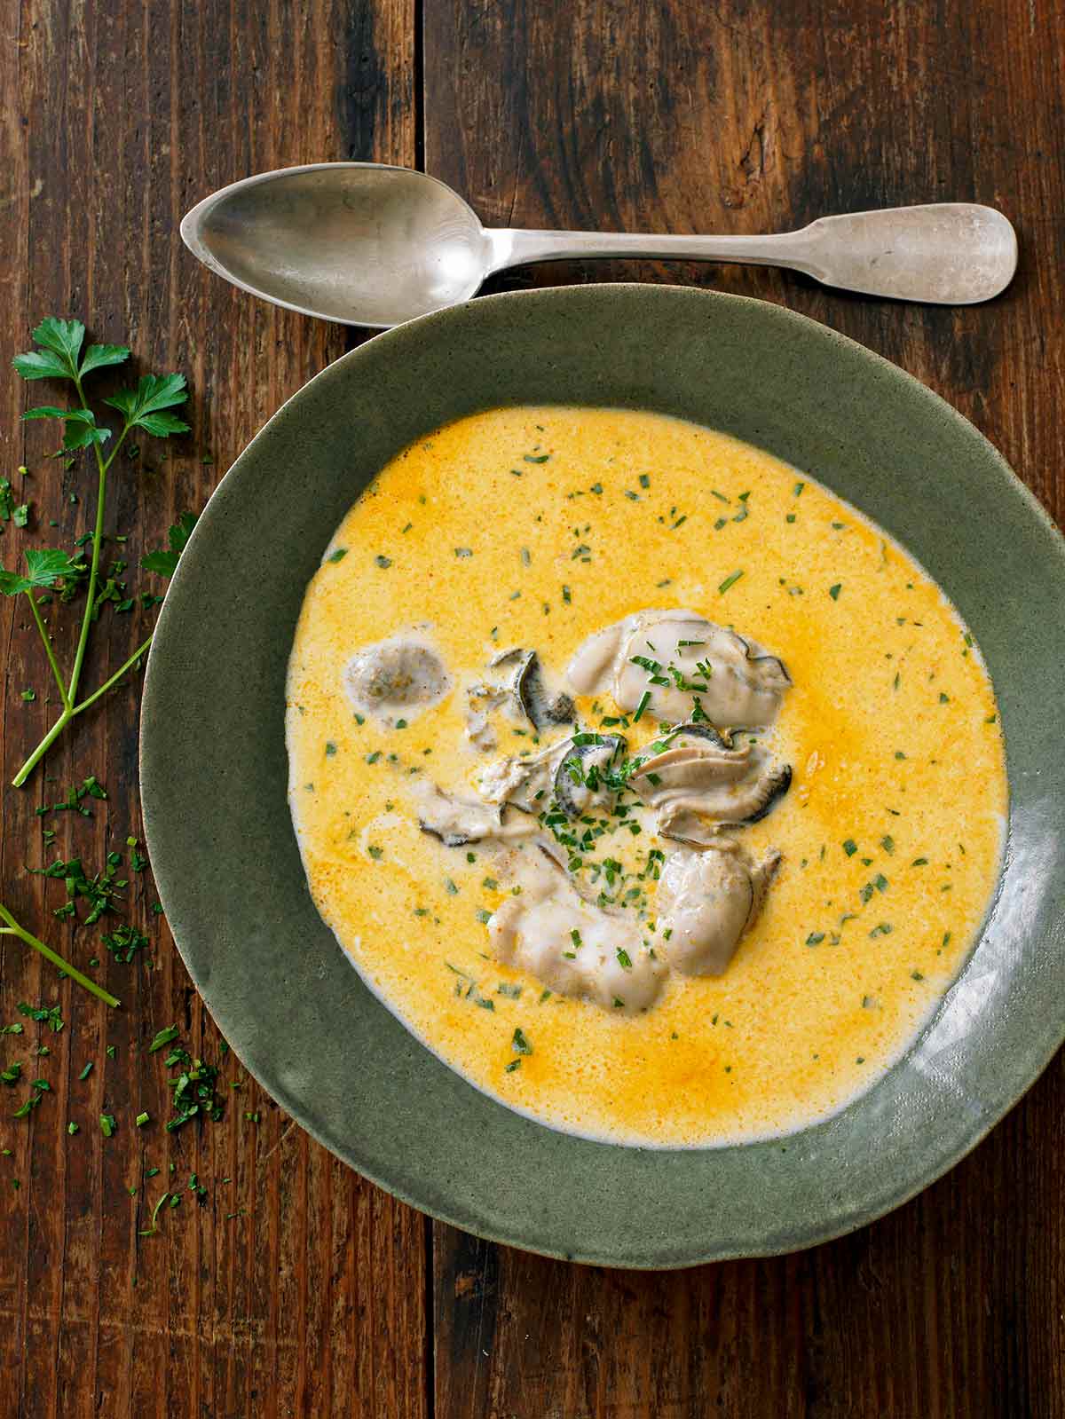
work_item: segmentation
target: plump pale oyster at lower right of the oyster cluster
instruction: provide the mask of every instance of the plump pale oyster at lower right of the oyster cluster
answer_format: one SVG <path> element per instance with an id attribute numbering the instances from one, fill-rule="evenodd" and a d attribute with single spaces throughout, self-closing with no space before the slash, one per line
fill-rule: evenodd
<path id="1" fill-rule="evenodd" d="M 656 948 L 683 975 L 721 975 L 761 910 L 780 854 L 751 866 L 731 839 L 693 851 L 679 847 L 662 868 Z"/>

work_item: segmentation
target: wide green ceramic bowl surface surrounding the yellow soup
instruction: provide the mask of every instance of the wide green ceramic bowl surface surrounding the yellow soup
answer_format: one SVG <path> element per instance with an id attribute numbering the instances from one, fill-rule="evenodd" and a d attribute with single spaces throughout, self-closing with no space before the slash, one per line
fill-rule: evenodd
<path id="1" fill-rule="evenodd" d="M 851 499 L 932 572 L 994 677 L 1001 890 L 909 1053 L 828 1122 L 720 1149 L 554 1132 L 474 1090 L 364 986 L 311 902 L 285 800 L 285 664 L 334 528 L 400 448 L 497 404 L 677 414 Z M 185 552 L 148 664 L 142 789 L 180 952 L 267 1090 L 368 1178 L 481 1236 L 608 1266 L 809 1246 L 957 1162 L 1065 1019 L 1065 546 L 995 450 L 907 375 L 799 315 L 692 289 L 498 295 L 379 335 L 291 399 Z"/>

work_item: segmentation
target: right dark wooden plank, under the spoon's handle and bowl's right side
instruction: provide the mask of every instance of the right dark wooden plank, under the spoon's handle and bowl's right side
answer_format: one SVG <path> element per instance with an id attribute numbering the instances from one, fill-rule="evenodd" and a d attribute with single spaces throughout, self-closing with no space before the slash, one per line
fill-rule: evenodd
<path id="1" fill-rule="evenodd" d="M 650 263 L 493 288 L 680 280 L 784 302 L 941 393 L 1061 519 L 1061 18 L 1047 0 L 426 0 L 426 167 L 490 226 L 757 233 L 909 201 L 1001 207 L 1022 261 L 990 307 Z M 623 1274 L 436 1226 L 436 1413 L 1064 1415 L 1064 1104 L 1058 1059 L 947 1178 L 802 1256 Z"/>

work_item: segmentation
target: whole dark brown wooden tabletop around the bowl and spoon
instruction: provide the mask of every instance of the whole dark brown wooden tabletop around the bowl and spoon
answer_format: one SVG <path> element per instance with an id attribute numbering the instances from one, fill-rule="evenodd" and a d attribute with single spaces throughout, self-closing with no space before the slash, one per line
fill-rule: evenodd
<path id="1" fill-rule="evenodd" d="M 352 343 L 185 253 L 182 213 L 226 182 L 375 159 L 425 166 L 491 224 L 667 231 L 973 199 L 1021 234 L 1018 278 L 991 307 L 889 305 L 728 267 L 555 265 L 496 287 L 639 275 L 785 302 L 939 390 L 1061 521 L 1062 20 L 1054 0 L 10 0 L 0 368 L 41 315 L 75 314 L 145 366 L 189 375 L 193 434 L 165 460 L 146 447 L 114 482 L 109 529 L 129 534 L 135 561 Z M 91 502 L 70 502 L 89 490 L 45 461 L 48 431 L 18 424 L 24 396 L 0 377 L 0 475 L 27 463 L 34 504 L 26 534 L 0 536 L 9 566 L 27 538 L 84 531 Z M 60 647 L 74 610 L 55 617 Z M 88 684 L 149 620 L 105 610 Z M 36 634 L 10 603 L 0 647 L 7 782 L 50 707 Z M 61 884 L 27 874 L 51 856 L 34 810 L 97 773 L 106 803 L 58 816 L 55 850 L 98 863 L 122 847 L 139 832 L 136 727 L 133 683 L 0 800 L 0 895 L 78 964 L 98 937 L 54 921 Z M 108 962 L 121 1012 L 21 948 L 0 954 L 0 1023 L 20 1000 L 58 1000 L 67 1019 L 58 1036 L 4 1037 L 4 1060 L 33 1061 L 53 1093 L 28 1120 L 0 1121 L 0 1415 L 1065 1415 L 1061 1057 L 970 1158 L 855 1236 L 676 1274 L 572 1267 L 427 1223 L 251 1081 L 223 1122 L 165 1134 L 165 1070 L 146 1043 L 178 1023 L 219 1061 L 220 1040 L 153 900 L 138 877 L 128 915 L 152 946 Z M 223 1076 L 244 1080 L 233 1054 Z M 136 1130 L 141 1110 L 153 1122 Z M 114 1138 L 101 1111 L 119 1120 Z M 170 1164 L 209 1202 L 186 1195 L 142 1237 Z M 149 1166 L 162 1172 L 145 1181 Z"/>

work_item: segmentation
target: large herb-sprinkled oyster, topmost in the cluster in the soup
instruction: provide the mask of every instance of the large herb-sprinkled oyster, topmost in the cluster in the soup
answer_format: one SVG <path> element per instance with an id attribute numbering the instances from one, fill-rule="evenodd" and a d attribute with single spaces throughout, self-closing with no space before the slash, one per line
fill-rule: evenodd
<path id="1" fill-rule="evenodd" d="M 687 610 L 646 610 L 589 636 L 569 661 L 578 694 L 609 691 L 618 705 L 659 719 L 690 719 L 699 705 L 711 724 L 772 724 L 791 684 L 763 646 Z"/>

